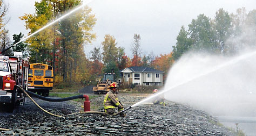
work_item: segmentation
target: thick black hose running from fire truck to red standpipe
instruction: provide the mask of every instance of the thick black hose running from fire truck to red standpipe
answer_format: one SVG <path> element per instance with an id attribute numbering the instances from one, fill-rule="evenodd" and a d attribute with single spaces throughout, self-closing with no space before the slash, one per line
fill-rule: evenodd
<path id="1" fill-rule="evenodd" d="M 39 99 L 43 99 L 44 101 L 48 101 L 48 102 L 64 102 L 64 101 L 70 101 L 72 99 L 81 99 L 84 98 L 84 95 L 77 95 L 77 96 L 71 96 L 71 97 L 66 97 L 66 98 L 49 98 L 49 97 L 43 97 L 41 95 L 37 95 L 31 91 L 26 90 L 26 92 L 33 97 L 37 97 Z"/>

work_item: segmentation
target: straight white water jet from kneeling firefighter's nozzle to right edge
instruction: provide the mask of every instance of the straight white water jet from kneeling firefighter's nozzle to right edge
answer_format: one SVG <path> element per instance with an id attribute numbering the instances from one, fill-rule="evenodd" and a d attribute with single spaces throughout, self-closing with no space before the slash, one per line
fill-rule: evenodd
<path id="1" fill-rule="evenodd" d="M 191 81 L 193 81 L 193 80 L 196 80 L 197 78 L 200 78 L 200 77 L 202 77 L 202 76 L 205 76 L 205 75 L 208 75 L 208 74 L 210 74 L 210 73 L 213 73 L 214 71 L 217 71 L 217 70 L 219 70 L 219 69 L 221 69 L 221 68 L 224 68 L 224 67 L 233 65 L 233 64 L 235 64 L 235 63 L 237 63 L 237 62 L 239 62 L 239 61 L 241 61 L 241 60 L 250 58 L 250 57 L 252 57 L 252 56 L 254 56 L 254 55 L 256 55 L 256 51 L 251 52 L 251 53 L 247 53 L 247 54 L 244 54 L 244 55 L 240 55 L 240 56 L 238 56 L 237 58 L 232 59 L 232 60 L 230 60 L 230 61 L 228 61 L 228 62 L 226 62 L 226 63 L 223 63 L 223 64 L 221 64 L 221 65 L 215 66 L 214 68 L 212 68 L 212 69 L 206 71 L 205 73 L 202 73 L 202 74 L 200 74 L 200 75 L 198 75 L 198 76 L 192 77 L 192 78 L 190 78 L 190 79 L 188 79 L 188 80 L 186 80 L 186 81 L 184 81 L 184 82 L 181 82 L 181 83 L 179 83 L 179 84 L 173 85 L 172 87 L 170 87 L 170 88 L 168 88 L 168 89 L 162 90 L 162 91 L 158 92 L 156 95 L 152 95 L 152 96 L 150 96 L 150 97 L 148 97 L 148 98 L 146 98 L 146 99 L 143 99 L 142 101 L 140 101 L 140 102 L 138 102 L 138 103 L 133 104 L 132 106 L 130 106 L 130 108 L 128 108 L 127 110 L 129 110 L 129 109 L 131 109 L 131 108 L 134 108 L 134 107 L 136 107 L 136 106 L 139 106 L 139 105 L 141 105 L 141 104 L 143 104 L 143 103 L 145 103 L 145 102 L 148 102 L 148 101 L 150 101 L 151 99 L 156 98 L 156 97 L 158 97 L 159 95 L 162 95 L 162 94 L 164 94 L 164 93 L 167 92 L 167 91 L 171 91 L 172 89 L 177 88 L 177 87 L 179 87 L 179 86 L 181 86 L 181 85 L 184 85 L 184 84 L 186 84 L 186 83 L 188 83 L 188 82 L 191 82 Z"/>

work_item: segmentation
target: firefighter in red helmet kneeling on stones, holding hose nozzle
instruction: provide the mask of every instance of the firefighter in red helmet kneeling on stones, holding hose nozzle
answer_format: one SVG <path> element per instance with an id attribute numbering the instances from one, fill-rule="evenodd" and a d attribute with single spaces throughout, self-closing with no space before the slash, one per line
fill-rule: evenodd
<path id="1" fill-rule="evenodd" d="M 124 110 L 124 106 L 120 103 L 119 99 L 117 98 L 116 91 L 117 91 L 117 83 L 113 82 L 109 86 L 110 90 L 107 92 L 104 98 L 104 112 L 108 114 L 113 114 L 114 109 L 117 107 L 118 112 Z M 125 116 L 124 113 L 120 113 L 120 116 Z"/>

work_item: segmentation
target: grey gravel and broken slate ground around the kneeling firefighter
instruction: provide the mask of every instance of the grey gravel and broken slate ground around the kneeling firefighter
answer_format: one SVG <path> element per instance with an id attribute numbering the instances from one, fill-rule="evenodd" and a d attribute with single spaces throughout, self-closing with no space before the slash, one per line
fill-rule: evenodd
<path id="1" fill-rule="evenodd" d="M 147 94 L 118 94 L 125 107 Z M 104 96 L 90 99 L 102 104 Z M 75 113 L 82 110 L 74 102 L 50 103 L 37 99 L 44 109 L 64 117 L 42 112 L 32 102 L 15 113 L 1 113 L 1 135 L 234 135 L 216 125 L 217 120 L 203 111 L 166 101 L 167 106 L 145 104 L 126 112 L 126 117 Z M 103 111 L 98 109 L 98 111 Z"/>

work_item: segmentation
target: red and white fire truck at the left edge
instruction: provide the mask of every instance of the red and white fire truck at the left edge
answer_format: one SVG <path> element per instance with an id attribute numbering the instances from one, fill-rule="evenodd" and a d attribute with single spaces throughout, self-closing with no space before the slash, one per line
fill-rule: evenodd
<path id="1" fill-rule="evenodd" d="M 25 101 L 23 91 L 15 85 L 27 90 L 29 61 L 21 56 L 20 53 L 15 53 L 15 56 L 0 54 L 0 104 L 11 112 Z"/>

